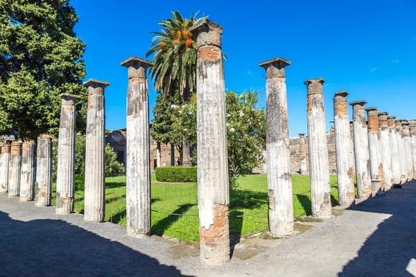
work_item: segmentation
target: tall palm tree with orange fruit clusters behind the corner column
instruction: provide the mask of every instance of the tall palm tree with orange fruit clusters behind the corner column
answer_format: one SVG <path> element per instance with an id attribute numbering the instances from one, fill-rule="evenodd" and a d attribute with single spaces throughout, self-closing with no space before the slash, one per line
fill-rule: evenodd
<path id="1" fill-rule="evenodd" d="M 156 91 L 167 95 L 180 93 L 184 102 L 189 102 L 191 93 L 196 90 L 196 53 L 198 46 L 189 28 L 206 19 L 197 19 L 191 15 L 184 19 L 180 12 L 172 12 L 173 18 L 159 21 L 163 26 L 152 39 L 146 57 L 154 56 L 150 76 Z M 191 166 L 191 145 L 184 139 L 182 142 L 182 165 Z"/>

